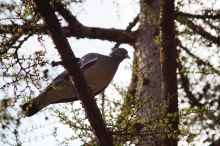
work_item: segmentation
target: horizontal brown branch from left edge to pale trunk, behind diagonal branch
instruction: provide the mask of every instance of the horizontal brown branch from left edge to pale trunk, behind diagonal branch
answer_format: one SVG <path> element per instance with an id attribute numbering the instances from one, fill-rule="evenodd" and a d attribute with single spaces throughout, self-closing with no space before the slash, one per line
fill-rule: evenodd
<path id="1" fill-rule="evenodd" d="M 22 29 L 24 34 L 28 34 L 29 31 L 42 32 L 48 34 L 44 27 L 33 28 L 30 25 L 1 25 L 0 34 L 13 33 L 13 29 Z M 105 29 L 97 27 L 85 27 L 85 26 L 74 26 L 69 25 L 62 27 L 63 33 L 66 37 L 77 37 L 77 38 L 90 38 L 107 40 L 119 43 L 133 44 L 136 40 L 137 32 L 130 32 L 120 29 Z"/>

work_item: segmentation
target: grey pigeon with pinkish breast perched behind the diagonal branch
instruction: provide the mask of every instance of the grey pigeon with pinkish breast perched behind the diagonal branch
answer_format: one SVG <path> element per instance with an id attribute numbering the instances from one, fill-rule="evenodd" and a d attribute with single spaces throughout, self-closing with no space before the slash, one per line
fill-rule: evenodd
<path id="1" fill-rule="evenodd" d="M 79 59 L 78 63 L 93 94 L 100 94 L 112 81 L 119 64 L 130 59 L 124 48 L 114 49 L 108 56 L 89 53 Z M 70 77 L 66 71 L 59 74 L 34 99 L 21 106 L 27 117 L 31 117 L 50 104 L 74 102 L 79 100 Z"/>

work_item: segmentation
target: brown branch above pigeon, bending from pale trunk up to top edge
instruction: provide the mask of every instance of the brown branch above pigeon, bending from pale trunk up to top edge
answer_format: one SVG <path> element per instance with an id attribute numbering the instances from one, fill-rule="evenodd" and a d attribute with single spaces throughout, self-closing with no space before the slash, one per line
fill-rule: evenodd
<path id="1" fill-rule="evenodd" d="M 101 39 L 131 44 L 136 40 L 136 35 L 134 32 L 117 29 L 86 27 L 71 14 L 71 12 L 61 2 L 54 1 L 53 5 L 69 24 L 68 31 L 64 32 L 66 36 L 74 35 L 78 38 L 87 37 L 91 39 Z"/>

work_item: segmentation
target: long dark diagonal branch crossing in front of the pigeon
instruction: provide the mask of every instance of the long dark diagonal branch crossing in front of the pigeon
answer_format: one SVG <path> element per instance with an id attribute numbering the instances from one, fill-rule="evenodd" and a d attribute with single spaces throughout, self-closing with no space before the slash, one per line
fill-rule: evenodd
<path id="1" fill-rule="evenodd" d="M 67 38 L 65 37 L 55 11 L 48 0 L 34 0 L 36 11 L 40 12 L 48 29 L 49 35 L 61 56 L 66 71 L 70 74 L 71 81 L 76 85 L 76 91 L 82 106 L 85 109 L 87 118 L 98 138 L 99 145 L 113 146 L 112 138 L 108 133 L 101 113 L 94 100 L 94 95 L 89 90 L 82 71 L 77 63 L 77 58 L 71 50 Z"/>

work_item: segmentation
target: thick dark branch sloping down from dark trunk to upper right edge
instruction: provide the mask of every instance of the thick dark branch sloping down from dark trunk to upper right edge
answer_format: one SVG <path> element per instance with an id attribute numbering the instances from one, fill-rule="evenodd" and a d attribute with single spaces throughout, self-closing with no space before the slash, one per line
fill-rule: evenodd
<path id="1" fill-rule="evenodd" d="M 201 35 L 202 37 L 212 41 L 213 43 L 215 43 L 217 45 L 220 45 L 220 36 L 215 37 L 215 36 L 211 35 L 207 31 L 205 31 L 204 28 L 202 28 L 199 25 L 196 25 L 195 23 L 193 23 L 193 21 L 189 20 L 186 17 L 182 17 L 182 18 L 178 18 L 178 19 L 176 18 L 176 20 L 179 23 L 186 25 L 188 28 L 192 29 L 194 32 Z"/>

